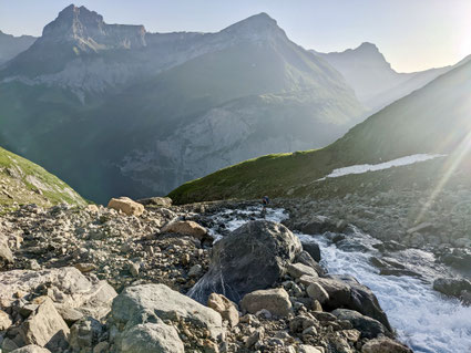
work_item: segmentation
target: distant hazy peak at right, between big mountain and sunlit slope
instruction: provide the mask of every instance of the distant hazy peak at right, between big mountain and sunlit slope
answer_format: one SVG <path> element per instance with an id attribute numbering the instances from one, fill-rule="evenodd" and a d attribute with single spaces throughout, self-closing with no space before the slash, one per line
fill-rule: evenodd
<path id="1" fill-rule="evenodd" d="M 453 66 L 398 73 L 372 43 L 366 42 L 344 52 L 315 53 L 336 68 L 354 87 L 360 102 L 373 112 L 423 87 L 469 60 Z"/>

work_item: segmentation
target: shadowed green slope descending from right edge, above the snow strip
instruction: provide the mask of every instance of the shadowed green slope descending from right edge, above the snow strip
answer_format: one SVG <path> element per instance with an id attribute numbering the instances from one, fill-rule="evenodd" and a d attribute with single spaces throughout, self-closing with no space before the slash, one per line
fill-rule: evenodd
<path id="1" fill-rule="evenodd" d="M 468 63 L 372 115 L 326 148 L 248 160 L 184 184 L 170 196 L 177 203 L 264 194 L 305 196 L 313 189 L 304 188 L 305 185 L 314 187 L 313 183 L 335 168 L 377 164 L 420 153 L 450 157 L 427 163 L 427 166 L 436 166 L 428 169 L 431 175 L 412 174 L 409 180 L 402 178 L 398 183 L 412 184 L 430 176 L 438 177 L 458 158 L 468 164 L 470 116 L 471 64 Z M 329 180 L 317 183 L 315 187 L 322 188 L 326 183 Z"/>

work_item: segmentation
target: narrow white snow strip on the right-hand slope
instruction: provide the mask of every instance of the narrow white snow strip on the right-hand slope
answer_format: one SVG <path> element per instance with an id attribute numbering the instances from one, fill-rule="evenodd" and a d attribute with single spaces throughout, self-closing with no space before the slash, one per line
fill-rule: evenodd
<path id="1" fill-rule="evenodd" d="M 379 164 L 359 164 L 355 166 L 349 166 L 345 168 L 338 168 L 334 169 L 332 173 L 330 173 L 328 176 L 317 179 L 317 181 L 325 180 L 326 178 L 337 178 L 340 176 L 349 175 L 349 174 L 362 174 L 367 172 L 376 172 L 376 170 L 382 170 L 388 169 L 391 167 L 400 167 L 400 166 L 407 166 L 410 164 L 419 163 L 419 162 L 426 162 L 429 159 L 434 159 L 439 157 L 444 157 L 446 155 L 430 155 L 430 154 L 417 154 L 411 156 L 406 156 L 392 160 L 388 160 L 385 163 Z"/>

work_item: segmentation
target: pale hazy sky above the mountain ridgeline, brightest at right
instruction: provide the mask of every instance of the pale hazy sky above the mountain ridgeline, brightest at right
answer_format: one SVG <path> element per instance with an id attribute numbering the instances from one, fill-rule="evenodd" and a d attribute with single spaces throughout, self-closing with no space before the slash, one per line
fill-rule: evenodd
<path id="1" fill-rule="evenodd" d="M 0 30 L 40 35 L 71 0 L 0 0 Z M 376 43 L 397 71 L 453 64 L 471 54 L 471 0 L 76 0 L 107 23 L 151 32 L 215 32 L 259 12 L 298 44 L 341 51 Z"/>

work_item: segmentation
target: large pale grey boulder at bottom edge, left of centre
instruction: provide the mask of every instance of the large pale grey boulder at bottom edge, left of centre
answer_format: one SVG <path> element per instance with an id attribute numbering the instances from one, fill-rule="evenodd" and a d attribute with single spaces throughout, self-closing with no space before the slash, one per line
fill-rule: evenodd
<path id="1" fill-rule="evenodd" d="M 188 350 L 203 349 L 198 336 L 218 342 L 223 335 L 219 313 L 164 284 L 124 289 L 113 301 L 109 324 L 119 332 L 117 352 L 183 352 L 175 328 L 194 334 L 185 342 Z"/>

